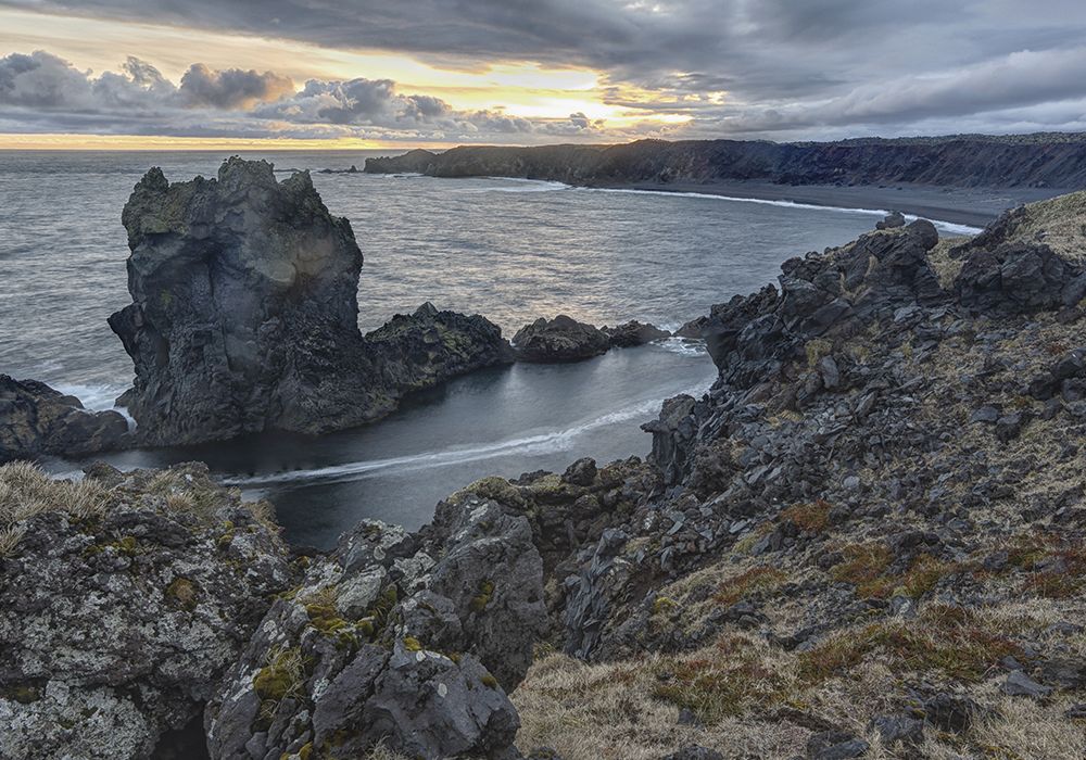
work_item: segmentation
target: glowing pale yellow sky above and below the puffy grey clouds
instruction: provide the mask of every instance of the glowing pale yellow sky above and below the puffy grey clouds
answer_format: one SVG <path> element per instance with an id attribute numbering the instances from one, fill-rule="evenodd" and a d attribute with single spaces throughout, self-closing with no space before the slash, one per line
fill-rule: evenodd
<path id="1" fill-rule="evenodd" d="M 645 5 L 641 10 L 652 12 L 653 9 Z M 94 76 L 102 72 L 121 72 L 125 59 L 132 55 L 152 64 L 174 83 L 195 63 L 211 69 L 270 71 L 290 77 L 296 90 L 310 79 L 390 79 L 395 83 L 395 92 L 402 96 L 440 98 L 459 112 L 493 112 L 544 122 L 563 122 L 571 115 L 583 114 L 593 123 L 593 139 L 606 138 L 613 129 L 622 130 L 626 136 L 635 132 L 640 124 L 646 125 L 645 131 L 651 132 L 652 125 L 681 125 L 690 121 L 684 114 L 672 113 L 666 103 L 655 109 L 653 104 L 658 93 L 616 87 L 602 72 L 584 67 L 545 66 L 530 61 L 503 61 L 475 67 L 451 63 L 442 67 L 393 52 L 333 50 L 247 35 L 0 10 L 0 56 L 39 49 L 70 61 L 79 71 L 92 71 Z M 614 97 L 616 91 L 621 93 L 618 99 Z M 315 125 L 313 130 L 319 132 L 320 128 Z M 435 134 L 433 137 L 438 142 L 426 142 L 439 145 L 441 136 Z M 620 135 L 616 131 L 610 137 Z M 378 142 L 344 138 L 332 128 L 326 135 L 315 134 L 314 138 L 326 147 L 342 145 L 343 140 L 351 141 L 351 147 L 355 148 L 391 144 L 383 138 Z M 58 132 L 3 137 L 0 145 L 111 147 L 124 142 L 125 145 L 161 148 L 163 141 L 177 147 L 209 144 L 207 138 L 191 138 L 188 143 L 185 139 L 76 138 Z M 418 143 L 419 136 L 405 128 L 402 140 Z M 292 140 L 289 145 L 283 142 L 283 147 L 293 148 L 293 143 L 300 141 Z M 250 143 L 227 140 L 223 144 Z"/>

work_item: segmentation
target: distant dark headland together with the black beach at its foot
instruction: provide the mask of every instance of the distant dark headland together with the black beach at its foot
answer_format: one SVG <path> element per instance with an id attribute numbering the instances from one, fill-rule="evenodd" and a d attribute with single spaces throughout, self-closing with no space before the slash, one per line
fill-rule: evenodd
<path id="1" fill-rule="evenodd" d="M 703 192 L 894 208 L 983 226 L 1021 203 L 1086 187 L 1086 137 L 854 139 L 779 143 L 639 140 L 615 145 L 462 145 L 367 159 L 366 172 L 520 177 L 597 188 Z"/>

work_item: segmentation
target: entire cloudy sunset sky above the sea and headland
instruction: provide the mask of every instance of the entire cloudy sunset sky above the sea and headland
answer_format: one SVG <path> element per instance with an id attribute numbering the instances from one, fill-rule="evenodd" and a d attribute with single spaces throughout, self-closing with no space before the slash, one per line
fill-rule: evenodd
<path id="1" fill-rule="evenodd" d="M 1086 129 L 1086 0 L 0 0 L 0 149 Z"/>

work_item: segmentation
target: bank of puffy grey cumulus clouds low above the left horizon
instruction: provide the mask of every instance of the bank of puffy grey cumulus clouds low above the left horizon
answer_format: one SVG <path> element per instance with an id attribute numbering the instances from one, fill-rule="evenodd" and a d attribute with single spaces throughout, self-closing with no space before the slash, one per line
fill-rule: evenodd
<path id="1" fill-rule="evenodd" d="M 173 137 L 298 137 L 488 140 L 594 134 L 584 114 L 528 119 L 500 110 L 456 111 L 391 79 L 311 79 L 295 91 L 273 72 L 192 64 L 174 85 L 146 61 L 94 76 L 45 51 L 0 59 L 0 131 L 73 131 Z"/>

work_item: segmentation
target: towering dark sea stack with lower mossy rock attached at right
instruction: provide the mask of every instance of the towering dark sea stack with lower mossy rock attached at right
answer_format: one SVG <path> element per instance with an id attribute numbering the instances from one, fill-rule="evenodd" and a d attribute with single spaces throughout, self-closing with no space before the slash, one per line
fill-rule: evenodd
<path id="1" fill-rule="evenodd" d="M 401 319 L 367 343 L 362 252 L 307 173 L 278 182 L 270 164 L 230 159 L 216 179 L 171 185 L 151 169 L 123 220 L 134 303 L 110 326 L 136 365 L 124 403 L 143 443 L 348 428 L 507 360 L 497 328 L 452 313 L 416 314 L 412 330 Z M 440 340 L 422 350 L 419 330 Z"/>

